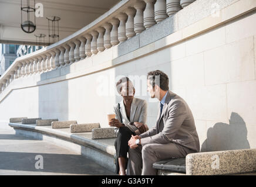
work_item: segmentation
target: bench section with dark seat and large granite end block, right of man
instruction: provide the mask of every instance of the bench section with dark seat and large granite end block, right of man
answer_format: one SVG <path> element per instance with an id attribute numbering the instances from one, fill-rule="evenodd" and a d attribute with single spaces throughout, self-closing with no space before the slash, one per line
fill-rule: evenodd
<path id="1" fill-rule="evenodd" d="M 159 175 L 234 175 L 256 172 L 256 149 L 191 153 L 155 162 Z M 184 163 L 186 161 L 186 163 Z"/>

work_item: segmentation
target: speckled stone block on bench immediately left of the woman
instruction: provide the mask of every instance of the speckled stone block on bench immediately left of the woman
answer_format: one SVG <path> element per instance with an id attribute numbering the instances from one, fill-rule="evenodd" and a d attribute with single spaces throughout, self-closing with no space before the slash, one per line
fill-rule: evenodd
<path id="1" fill-rule="evenodd" d="M 92 139 L 115 138 L 113 127 L 95 128 L 92 130 Z"/>

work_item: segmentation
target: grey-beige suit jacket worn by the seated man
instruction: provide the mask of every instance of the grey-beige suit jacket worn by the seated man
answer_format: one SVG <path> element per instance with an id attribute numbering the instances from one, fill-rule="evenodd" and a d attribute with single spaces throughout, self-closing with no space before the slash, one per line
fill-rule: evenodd
<path id="1" fill-rule="evenodd" d="M 161 116 L 159 110 L 156 126 L 140 134 L 140 137 L 142 146 L 151 143 L 176 143 L 195 152 L 200 151 L 192 112 L 184 99 L 171 91 L 166 95 Z"/>

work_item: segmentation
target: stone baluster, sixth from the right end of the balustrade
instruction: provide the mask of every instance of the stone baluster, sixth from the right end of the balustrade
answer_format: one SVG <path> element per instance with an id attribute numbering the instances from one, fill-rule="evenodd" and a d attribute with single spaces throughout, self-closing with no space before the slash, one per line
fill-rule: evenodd
<path id="1" fill-rule="evenodd" d="M 134 16 L 136 13 L 136 9 L 132 8 L 132 7 L 128 7 L 126 9 L 126 11 L 124 11 L 127 16 L 127 22 L 126 22 L 126 37 L 127 39 L 130 39 L 131 37 L 135 36 L 135 32 L 134 32 Z"/>

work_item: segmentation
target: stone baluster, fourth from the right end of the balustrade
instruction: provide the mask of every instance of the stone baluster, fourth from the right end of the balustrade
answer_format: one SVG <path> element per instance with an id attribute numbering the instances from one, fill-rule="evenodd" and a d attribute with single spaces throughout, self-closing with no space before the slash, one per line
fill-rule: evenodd
<path id="1" fill-rule="evenodd" d="M 149 29 L 151 26 L 156 24 L 154 20 L 154 2 L 156 0 L 143 0 L 143 1 L 146 2 L 146 8 L 143 13 L 144 27 L 146 29 Z"/>

